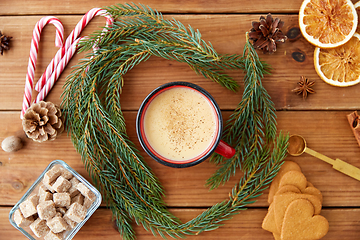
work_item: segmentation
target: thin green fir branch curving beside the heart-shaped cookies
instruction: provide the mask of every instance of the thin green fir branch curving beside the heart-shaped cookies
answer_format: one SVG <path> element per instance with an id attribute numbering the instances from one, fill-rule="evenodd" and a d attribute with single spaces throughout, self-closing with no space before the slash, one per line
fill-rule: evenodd
<path id="1" fill-rule="evenodd" d="M 213 230 L 220 227 L 223 221 L 238 214 L 240 210 L 245 210 L 246 205 L 254 203 L 254 199 L 261 195 L 279 171 L 286 156 L 287 140 L 288 136 L 280 134 L 271 156 L 268 149 L 264 149 L 257 156 L 257 164 L 245 172 L 239 184 L 230 192 L 229 200 L 215 204 L 179 228 L 183 228 L 186 234 L 196 235 Z"/>

